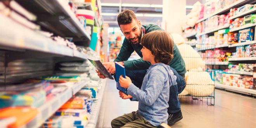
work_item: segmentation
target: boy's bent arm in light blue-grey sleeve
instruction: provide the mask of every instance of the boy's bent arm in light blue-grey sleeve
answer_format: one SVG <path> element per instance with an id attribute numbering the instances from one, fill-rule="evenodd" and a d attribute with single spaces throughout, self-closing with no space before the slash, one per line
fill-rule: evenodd
<path id="1" fill-rule="evenodd" d="M 151 106 L 163 90 L 164 79 L 164 73 L 160 70 L 154 69 L 149 73 L 145 91 L 140 90 L 137 86 L 131 83 L 128 87 L 127 93 L 139 102 L 142 102 L 147 106 Z"/>

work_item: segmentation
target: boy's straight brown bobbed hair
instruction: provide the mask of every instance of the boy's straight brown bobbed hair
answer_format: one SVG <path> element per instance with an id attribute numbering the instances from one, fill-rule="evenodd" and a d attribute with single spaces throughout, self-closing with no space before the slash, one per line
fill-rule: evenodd
<path id="1" fill-rule="evenodd" d="M 173 59 L 173 40 L 166 31 L 151 31 L 141 38 L 140 43 L 155 56 L 155 62 L 170 64 Z"/>

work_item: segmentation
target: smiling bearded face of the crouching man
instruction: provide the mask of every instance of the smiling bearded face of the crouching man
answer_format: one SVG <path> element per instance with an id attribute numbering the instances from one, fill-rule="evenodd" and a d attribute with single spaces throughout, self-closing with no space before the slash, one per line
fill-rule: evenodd
<path id="1" fill-rule="evenodd" d="M 132 20 L 130 24 L 120 25 L 121 31 L 125 35 L 125 38 L 133 44 L 140 43 L 140 34 L 141 34 L 141 23 L 140 20 Z"/>

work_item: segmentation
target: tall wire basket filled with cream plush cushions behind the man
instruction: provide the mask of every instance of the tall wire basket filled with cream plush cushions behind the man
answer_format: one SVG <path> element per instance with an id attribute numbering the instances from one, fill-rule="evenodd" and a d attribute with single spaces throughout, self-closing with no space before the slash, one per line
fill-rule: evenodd
<path id="1" fill-rule="evenodd" d="M 194 46 L 180 50 L 188 70 L 185 74 L 186 87 L 178 95 L 180 99 L 207 99 L 207 105 L 214 105 L 215 99 L 215 45 L 183 44 Z M 178 46 L 180 49 L 180 46 Z M 197 53 L 196 53 L 197 52 Z M 197 68 L 196 68 L 197 67 Z"/>

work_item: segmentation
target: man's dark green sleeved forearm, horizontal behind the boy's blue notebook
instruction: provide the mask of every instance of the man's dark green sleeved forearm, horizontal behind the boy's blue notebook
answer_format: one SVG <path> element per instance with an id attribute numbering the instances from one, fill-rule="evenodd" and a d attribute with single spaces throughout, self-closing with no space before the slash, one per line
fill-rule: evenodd
<path id="1" fill-rule="evenodd" d="M 143 61 L 143 58 L 131 61 L 124 61 L 126 70 L 146 70 L 150 66 L 150 62 Z"/>

